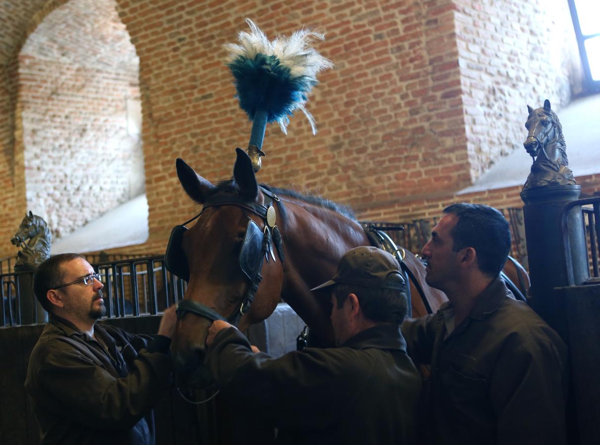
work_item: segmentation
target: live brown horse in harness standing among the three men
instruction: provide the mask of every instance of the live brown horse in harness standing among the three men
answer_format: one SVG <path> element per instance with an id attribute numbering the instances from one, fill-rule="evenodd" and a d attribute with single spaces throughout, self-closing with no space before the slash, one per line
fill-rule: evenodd
<path id="1" fill-rule="evenodd" d="M 271 315 L 282 297 L 321 345 L 334 345 L 329 299 L 310 289 L 331 278 L 348 249 L 371 244 L 347 209 L 259 185 L 248 155 L 236 151 L 233 179 L 217 185 L 181 159 L 176 163 L 182 187 L 203 205 L 190 220 L 197 219 L 193 227 L 186 222 L 173 229 L 165 254 L 167 268 L 188 281 L 171 351 L 179 377 L 191 387 L 209 383 L 200 365 L 213 320 L 244 331 Z M 427 285 L 419 258 L 406 252 L 404 263 L 412 275 L 413 316 L 435 312 L 445 294 Z"/>

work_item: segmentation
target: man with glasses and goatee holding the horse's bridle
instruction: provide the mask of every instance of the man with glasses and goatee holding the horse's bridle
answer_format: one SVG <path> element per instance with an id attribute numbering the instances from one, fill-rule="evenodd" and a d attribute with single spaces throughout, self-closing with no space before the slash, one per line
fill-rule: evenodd
<path id="1" fill-rule="evenodd" d="M 101 327 L 103 287 L 78 254 L 50 257 L 35 272 L 34 293 L 49 322 L 25 388 L 44 445 L 155 443 L 152 407 L 170 386 L 175 306 L 154 338 Z"/>

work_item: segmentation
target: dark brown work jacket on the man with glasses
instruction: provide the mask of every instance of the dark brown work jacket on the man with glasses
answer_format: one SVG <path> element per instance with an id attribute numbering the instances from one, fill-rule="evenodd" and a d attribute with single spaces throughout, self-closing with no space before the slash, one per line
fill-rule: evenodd
<path id="1" fill-rule="evenodd" d="M 94 335 L 104 344 L 51 315 L 31 353 L 25 389 L 41 443 L 154 444 L 152 406 L 170 385 L 170 339 L 98 324 Z"/>

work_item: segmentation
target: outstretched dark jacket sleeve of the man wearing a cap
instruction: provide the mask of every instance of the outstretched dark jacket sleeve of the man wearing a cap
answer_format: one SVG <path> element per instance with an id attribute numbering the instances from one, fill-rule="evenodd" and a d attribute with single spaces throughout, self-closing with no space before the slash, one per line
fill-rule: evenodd
<path id="1" fill-rule="evenodd" d="M 373 362 L 350 348 L 305 348 L 277 359 L 254 354 L 233 327 L 215 336 L 205 363 L 240 412 L 260 414 L 279 428 L 336 422 L 353 409 L 373 372 Z"/>

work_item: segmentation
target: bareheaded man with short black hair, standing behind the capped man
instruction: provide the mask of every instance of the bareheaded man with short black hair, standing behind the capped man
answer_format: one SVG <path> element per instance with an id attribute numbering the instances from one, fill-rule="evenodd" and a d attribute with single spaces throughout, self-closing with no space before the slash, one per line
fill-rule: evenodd
<path id="1" fill-rule="evenodd" d="M 499 277 L 510 247 L 500 212 L 461 203 L 422 249 L 427 283 L 449 299 L 402 325 L 410 356 L 431 365 L 422 443 L 566 443 L 566 346 Z"/>

